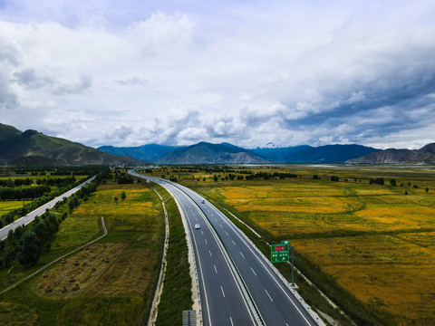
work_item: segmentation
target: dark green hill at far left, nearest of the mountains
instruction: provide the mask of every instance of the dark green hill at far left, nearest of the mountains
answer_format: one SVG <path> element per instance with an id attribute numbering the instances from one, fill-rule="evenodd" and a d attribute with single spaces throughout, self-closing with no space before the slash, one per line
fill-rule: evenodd
<path id="1" fill-rule="evenodd" d="M 21 166 L 137 165 L 135 158 L 108 154 L 67 139 L 43 135 L 36 130 L 24 132 L 0 123 L 0 161 Z"/>

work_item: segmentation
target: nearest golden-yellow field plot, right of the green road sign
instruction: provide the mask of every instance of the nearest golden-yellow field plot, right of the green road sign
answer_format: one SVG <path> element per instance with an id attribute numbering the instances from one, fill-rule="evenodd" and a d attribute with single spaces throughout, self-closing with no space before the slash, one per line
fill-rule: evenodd
<path id="1" fill-rule="evenodd" d="M 394 315 L 433 316 L 435 251 L 390 235 L 298 239 L 292 245 L 367 304 Z M 412 307 L 412 309 L 410 308 Z"/>

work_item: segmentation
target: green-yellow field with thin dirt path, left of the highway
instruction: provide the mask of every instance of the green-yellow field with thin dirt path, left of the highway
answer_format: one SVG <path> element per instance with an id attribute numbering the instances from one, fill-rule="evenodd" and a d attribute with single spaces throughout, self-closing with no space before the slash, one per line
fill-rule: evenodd
<path id="1" fill-rule="evenodd" d="M 126 199 L 115 202 L 125 191 Z M 97 244 L 64 259 L 0 298 L 0 324 L 131 325 L 145 318 L 157 280 L 164 236 L 160 199 L 143 185 L 98 187 L 61 224 L 52 250 L 29 271 L 0 272 L 0 286 L 102 233 Z M 24 313 L 20 314 L 21 312 Z M 23 317 L 25 316 L 25 318 Z M 9 322 L 9 323 L 8 323 Z"/>

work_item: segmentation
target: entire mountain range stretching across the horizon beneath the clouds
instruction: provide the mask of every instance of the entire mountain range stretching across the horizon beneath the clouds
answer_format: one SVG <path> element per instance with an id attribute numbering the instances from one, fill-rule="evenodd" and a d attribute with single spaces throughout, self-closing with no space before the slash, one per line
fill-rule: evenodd
<path id="1" fill-rule="evenodd" d="M 373 149 L 361 145 L 308 145 L 243 149 L 229 143 L 201 141 L 190 146 L 158 144 L 131 148 L 84 146 L 67 139 L 20 131 L 0 123 L 0 163 L 9 166 L 350 163 L 435 164 L 435 143 L 421 149 Z"/>

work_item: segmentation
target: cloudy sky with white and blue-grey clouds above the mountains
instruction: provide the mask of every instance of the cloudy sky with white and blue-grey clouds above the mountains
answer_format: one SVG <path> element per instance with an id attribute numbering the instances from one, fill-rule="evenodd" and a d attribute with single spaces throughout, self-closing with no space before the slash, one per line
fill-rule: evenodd
<path id="1" fill-rule="evenodd" d="M 435 141 L 435 3 L 0 0 L 0 122 L 86 145 Z"/>

